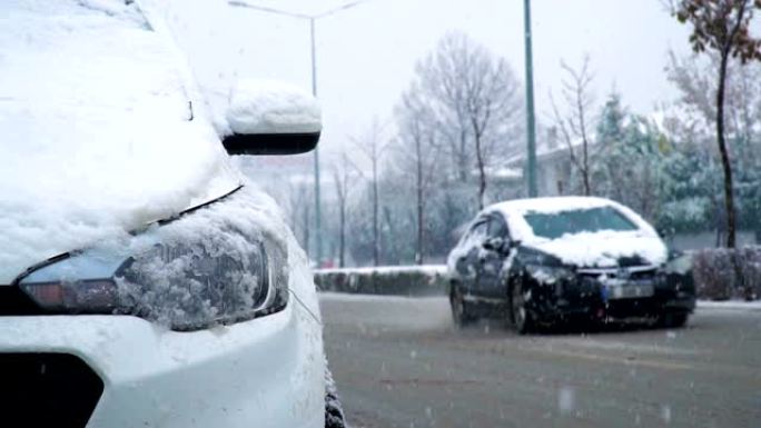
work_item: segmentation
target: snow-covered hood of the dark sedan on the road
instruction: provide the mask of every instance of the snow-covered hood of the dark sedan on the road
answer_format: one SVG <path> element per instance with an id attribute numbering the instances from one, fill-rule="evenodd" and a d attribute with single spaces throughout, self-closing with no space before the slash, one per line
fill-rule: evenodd
<path id="1" fill-rule="evenodd" d="M 642 236 L 640 232 L 577 233 L 535 241 L 530 247 L 555 256 L 566 265 L 589 268 L 617 267 L 620 259 L 630 258 L 639 258 L 646 265 L 660 266 L 666 261 L 669 255 L 660 238 Z"/>

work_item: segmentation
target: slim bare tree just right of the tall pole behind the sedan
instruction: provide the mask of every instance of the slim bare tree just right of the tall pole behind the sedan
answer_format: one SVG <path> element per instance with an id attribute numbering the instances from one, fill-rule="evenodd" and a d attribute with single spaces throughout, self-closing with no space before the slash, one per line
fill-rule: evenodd
<path id="1" fill-rule="evenodd" d="M 592 193 L 589 127 L 591 122 L 590 110 L 594 103 L 594 96 L 591 90 L 594 76 L 590 70 L 589 57 L 584 57 L 580 70 L 570 67 L 564 61 L 561 61 L 561 67 L 566 73 L 566 79 L 562 81 L 565 113 L 561 113 L 552 93 L 550 93 L 552 112 L 561 137 L 569 148 L 571 163 L 581 176 L 584 195 L 589 196 Z"/>

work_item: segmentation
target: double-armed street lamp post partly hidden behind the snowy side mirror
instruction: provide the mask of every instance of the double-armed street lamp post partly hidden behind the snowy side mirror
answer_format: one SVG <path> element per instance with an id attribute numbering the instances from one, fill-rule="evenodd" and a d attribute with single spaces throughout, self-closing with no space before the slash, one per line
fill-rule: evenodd
<path id="1" fill-rule="evenodd" d="M 329 17 L 339 12 L 353 8 L 367 0 L 357 0 L 335 9 L 317 13 L 317 14 L 304 14 L 288 12 L 285 10 L 268 8 L 258 4 L 251 4 L 244 0 L 229 0 L 228 4 L 239 8 L 254 9 L 259 12 L 280 14 L 284 17 L 290 17 L 295 19 L 309 21 L 309 39 L 310 39 L 310 52 L 312 52 L 312 94 L 317 97 L 317 44 L 315 42 L 315 26 L 318 19 Z M 318 147 L 315 148 L 315 260 L 317 261 L 317 267 L 323 260 L 323 225 L 322 225 L 322 203 L 320 203 L 320 192 L 319 192 L 319 150 Z"/>

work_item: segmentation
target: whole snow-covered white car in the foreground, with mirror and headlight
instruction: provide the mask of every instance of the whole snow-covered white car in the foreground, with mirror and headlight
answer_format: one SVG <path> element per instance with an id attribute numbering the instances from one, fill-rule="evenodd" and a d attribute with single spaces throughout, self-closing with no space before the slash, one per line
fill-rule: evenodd
<path id="1" fill-rule="evenodd" d="M 0 4 L 0 426 L 326 425 L 307 257 L 228 156 L 310 150 L 319 108 L 189 76 L 132 1 Z"/>

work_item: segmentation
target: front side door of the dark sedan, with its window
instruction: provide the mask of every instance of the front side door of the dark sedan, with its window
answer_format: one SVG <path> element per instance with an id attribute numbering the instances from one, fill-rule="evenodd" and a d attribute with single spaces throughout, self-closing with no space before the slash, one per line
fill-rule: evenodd
<path id="1" fill-rule="evenodd" d="M 486 246 L 491 242 L 492 246 Z M 502 246 L 494 247 L 497 242 Z M 486 221 L 486 236 L 478 246 L 476 255 L 476 285 L 474 287 L 478 296 L 488 298 L 503 298 L 507 296 L 502 278 L 502 267 L 507 248 L 510 235 L 505 220 L 498 213 L 488 216 Z M 487 248 L 488 247 L 488 248 Z"/>

